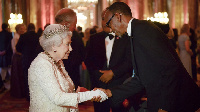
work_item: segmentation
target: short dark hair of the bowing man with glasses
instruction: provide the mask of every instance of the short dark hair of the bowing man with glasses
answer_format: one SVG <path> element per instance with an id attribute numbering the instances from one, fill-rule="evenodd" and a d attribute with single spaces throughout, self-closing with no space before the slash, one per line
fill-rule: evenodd
<path id="1" fill-rule="evenodd" d="M 132 12 L 130 7 L 124 2 L 115 2 L 108 9 L 113 14 L 120 13 L 132 17 Z"/>

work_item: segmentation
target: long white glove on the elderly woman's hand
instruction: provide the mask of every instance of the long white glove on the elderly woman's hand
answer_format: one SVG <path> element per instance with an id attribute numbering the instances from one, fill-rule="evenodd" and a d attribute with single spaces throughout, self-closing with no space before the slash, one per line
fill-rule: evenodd
<path id="1" fill-rule="evenodd" d="M 97 89 L 95 91 L 78 92 L 79 93 L 79 103 L 91 100 L 94 96 L 101 97 L 100 102 L 108 99 L 108 96 L 101 90 Z"/>

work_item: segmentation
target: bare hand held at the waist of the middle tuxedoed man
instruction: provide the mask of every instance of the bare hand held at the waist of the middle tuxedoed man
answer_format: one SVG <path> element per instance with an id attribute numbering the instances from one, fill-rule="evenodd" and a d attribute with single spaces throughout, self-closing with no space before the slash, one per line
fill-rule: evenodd
<path id="1" fill-rule="evenodd" d="M 100 81 L 108 83 L 114 76 L 112 70 L 99 70 L 103 75 L 99 78 Z"/>

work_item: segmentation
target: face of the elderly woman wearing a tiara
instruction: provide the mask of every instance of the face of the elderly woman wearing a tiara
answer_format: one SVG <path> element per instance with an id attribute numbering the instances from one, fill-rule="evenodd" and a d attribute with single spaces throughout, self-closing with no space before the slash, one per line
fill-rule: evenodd
<path id="1" fill-rule="evenodd" d="M 63 39 L 61 45 L 54 47 L 54 50 L 56 50 L 57 61 L 62 59 L 68 59 L 69 53 L 72 51 L 71 37 L 69 36 Z"/>

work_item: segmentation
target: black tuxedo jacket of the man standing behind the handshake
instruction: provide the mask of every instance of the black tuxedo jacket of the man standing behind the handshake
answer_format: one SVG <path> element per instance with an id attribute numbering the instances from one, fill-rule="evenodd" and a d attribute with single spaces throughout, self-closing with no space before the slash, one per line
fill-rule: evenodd
<path id="1" fill-rule="evenodd" d="M 109 66 L 107 67 L 105 37 L 107 33 L 100 32 L 90 37 L 87 46 L 85 64 L 90 73 L 92 86 L 111 88 L 120 85 L 132 74 L 130 41 L 128 37 L 115 38 Z M 99 80 L 102 73 L 99 70 L 112 70 L 113 79 L 105 84 Z"/>

